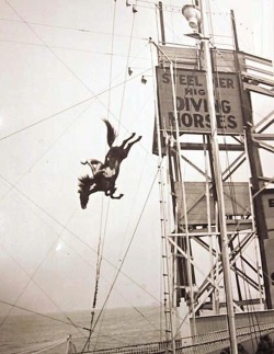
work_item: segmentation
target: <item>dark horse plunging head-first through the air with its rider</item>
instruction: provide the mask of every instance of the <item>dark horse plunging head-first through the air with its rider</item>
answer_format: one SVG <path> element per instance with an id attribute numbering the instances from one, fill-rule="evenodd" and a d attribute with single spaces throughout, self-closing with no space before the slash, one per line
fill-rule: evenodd
<path id="1" fill-rule="evenodd" d="M 114 195 L 117 190 L 115 186 L 115 181 L 119 173 L 119 167 L 122 161 L 127 158 L 132 146 L 141 139 L 141 136 L 139 136 L 137 139 L 128 142 L 136 135 L 133 133 L 129 138 L 122 142 L 121 146 L 113 146 L 117 134 L 109 121 L 103 119 L 103 122 L 106 125 L 106 140 L 110 150 L 105 156 L 104 163 L 96 159 L 90 159 L 81 162 L 82 164 L 88 164 L 92 172 L 92 178 L 89 175 L 79 178 L 78 193 L 80 194 L 82 209 L 87 208 L 89 196 L 95 192 L 104 192 L 106 196 L 110 196 L 113 199 L 122 198 L 124 194 Z"/>

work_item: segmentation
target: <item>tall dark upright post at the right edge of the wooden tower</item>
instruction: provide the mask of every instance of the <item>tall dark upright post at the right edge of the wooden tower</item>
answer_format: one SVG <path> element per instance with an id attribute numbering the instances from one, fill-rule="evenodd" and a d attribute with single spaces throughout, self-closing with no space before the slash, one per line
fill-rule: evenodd
<path id="1" fill-rule="evenodd" d="M 235 47 L 236 47 L 236 50 L 238 52 L 239 45 L 238 45 L 238 37 L 237 37 L 237 30 L 236 30 L 235 13 L 232 10 L 230 14 L 231 14 L 233 38 L 235 38 Z M 260 244 L 260 254 L 261 254 L 261 262 L 262 262 L 262 270 L 263 270 L 265 302 L 266 302 L 266 308 L 272 309 L 270 278 L 269 278 L 267 262 L 266 262 L 265 249 L 264 249 L 264 239 L 267 239 L 267 227 L 266 227 L 265 214 L 263 209 L 262 194 L 260 193 L 256 194 L 263 186 L 263 182 L 261 182 L 259 179 L 260 175 L 263 175 L 263 171 L 262 171 L 259 148 L 252 139 L 252 133 L 254 132 L 252 132 L 253 117 L 252 117 L 252 109 L 251 109 L 251 99 L 250 99 L 250 93 L 243 89 L 238 53 L 236 53 L 235 55 L 235 62 L 238 71 L 238 78 L 239 78 L 243 125 L 246 126 L 247 150 L 248 150 L 248 156 L 250 161 L 252 195 L 255 195 L 255 197 L 253 198 L 253 206 L 254 206 L 255 225 L 256 225 L 256 232 L 258 232 L 258 239 Z"/>

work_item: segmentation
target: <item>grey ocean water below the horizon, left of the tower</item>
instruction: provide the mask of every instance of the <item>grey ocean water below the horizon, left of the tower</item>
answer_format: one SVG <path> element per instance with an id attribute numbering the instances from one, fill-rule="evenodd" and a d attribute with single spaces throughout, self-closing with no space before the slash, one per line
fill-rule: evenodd
<path id="1" fill-rule="evenodd" d="M 81 352 L 89 334 L 83 328 L 90 327 L 90 311 L 66 315 L 78 329 L 60 322 L 68 321 L 62 315 L 48 315 L 55 320 L 35 315 L 8 317 L 0 329 L 0 353 L 61 354 L 66 352 L 65 342 L 69 334 L 77 351 Z M 164 340 L 163 329 L 159 308 L 107 309 L 98 321 L 90 350 L 161 341 Z M 62 344 L 56 346 L 58 342 Z M 43 345 L 53 347 L 43 351 Z"/>

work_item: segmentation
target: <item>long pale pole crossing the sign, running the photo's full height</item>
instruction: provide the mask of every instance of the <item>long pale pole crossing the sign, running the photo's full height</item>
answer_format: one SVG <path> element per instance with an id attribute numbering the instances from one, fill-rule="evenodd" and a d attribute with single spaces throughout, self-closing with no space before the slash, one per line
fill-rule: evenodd
<path id="1" fill-rule="evenodd" d="M 203 1 L 201 1 L 201 12 L 202 12 L 203 34 L 205 36 L 205 34 L 207 33 L 207 27 L 205 24 L 206 13 L 205 13 Z M 215 174 L 215 182 L 216 182 L 217 204 L 218 204 L 218 210 L 219 210 L 224 283 L 225 283 L 225 290 L 226 290 L 226 297 L 227 297 L 230 351 L 232 354 L 237 354 L 238 353 L 237 333 L 236 333 L 236 322 L 235 322 L 235 311 L 233 311 L 232 286 L 231 286 L 231 277 L 230 277 L 224 187 L 222 187 L 222 180 L 221 180 L 221 173 L 220 173 L 219 146 L 218 146 L 218 134 L 217 134 L 217 125 L 216 125 L 216 111 L 215 111 L 215 99 L 214 99 L 214 87 L 213 87 L 212 60 L 210 60 L 210 52 L 209 52 L 209 38 L 204 37 L 203 41 L 204 41 L 205 66 L 206 66 L 205 68 L 206 83 L 207 83 L 207 92 L 208 92 L 208 109 L 210 114 L 210 135 L 212 135 L 210 137 L 212 137 L 213 157 L 214 157 L 213 163 L 214 163 L 214 174 Z"/>

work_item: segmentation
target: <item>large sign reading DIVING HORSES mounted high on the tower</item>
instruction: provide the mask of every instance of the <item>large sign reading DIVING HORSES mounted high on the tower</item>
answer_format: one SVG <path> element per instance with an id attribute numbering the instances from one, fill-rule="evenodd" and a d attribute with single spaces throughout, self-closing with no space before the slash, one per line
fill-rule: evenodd
<path id="1" fill-rule="evenodd" d="M 191 134 L 210 133 L 205 72 L 176 69 L 174 82 L 179 130 Z M 175 132 L 175 110 L 169 68 L 157 67 L 157 83 L 161 127 Z M 214 88 L 218 133 L 242 134 L 242 112 L 237 75 L 215 73 Z"/>

